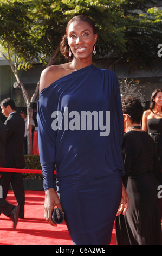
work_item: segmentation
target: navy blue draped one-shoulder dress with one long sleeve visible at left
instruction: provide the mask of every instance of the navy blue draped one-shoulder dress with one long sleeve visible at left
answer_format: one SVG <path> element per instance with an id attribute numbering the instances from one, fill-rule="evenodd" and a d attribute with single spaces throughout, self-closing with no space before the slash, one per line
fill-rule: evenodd
<path id="1" fill-rule="evenodd" d="M 67 107 L 69 123 L 65 120 Z M 54 131 L 55 111 L 64 119 Z M 98 113 L 98 117 L 104 113 L 104 125 L 105 113 L 110 112 L 108 135 L 101 136 L 103 126 L 96 129 L 93 117 L 91 129 L 88 123 L 82 129 L 81 119 L 77 126 L 73 119 L 76 112 L 81 117 L 87 111 Z M 74 245 L 108 245 L 111 240 L 121 200 L 121 176 L 125 174 L 123 127 L 118 78 L 112 71 L 90 65 L 60 78 L 40 93 L 38 139 L 44 190 L 53 187 L 56 165 L 57 192 Z"/>

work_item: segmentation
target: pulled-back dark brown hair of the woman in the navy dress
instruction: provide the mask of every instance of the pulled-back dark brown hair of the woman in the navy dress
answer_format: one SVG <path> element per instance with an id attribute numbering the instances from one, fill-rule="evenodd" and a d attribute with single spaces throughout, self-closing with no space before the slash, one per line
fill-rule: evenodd
<path id="1" fill-rule="evenodd" d="M 72 56 L 69 57 L 69 45 L 68 45 L 68 36 L 67 36 L 69 26 L 73 21 L 85 21 L 92 27 L 94 35 L 97 33 L 95 22 L 92 19 L 90 19 L 88 16 L 78 15 L 78 16 L 74 16 L 71 20 L 69 20 L 66 27 L 66 34 L 63 36 L 60 44 L 60 52 L 66 58 L 67 62 L 71 62 L 73 60 L 73 53 L 72 53 Z"/>

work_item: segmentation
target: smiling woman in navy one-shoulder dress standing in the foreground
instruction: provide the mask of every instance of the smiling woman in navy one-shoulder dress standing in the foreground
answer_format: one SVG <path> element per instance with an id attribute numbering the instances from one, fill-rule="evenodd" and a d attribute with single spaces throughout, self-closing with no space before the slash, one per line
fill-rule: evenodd
<path id="1" fill-rule="evenodd" d="M 116 213 L 125 214 L 128 208 L 122 186 L 124 124 L 118 78 L 92 64 L 96 41 L 94 22 L 73 17 L 61 42 L 68 62 L 46 68 L 40 79 L 44 211 L 51 225 L 53 208 L 64 212 L 74 245 L 109 245 Z"/>

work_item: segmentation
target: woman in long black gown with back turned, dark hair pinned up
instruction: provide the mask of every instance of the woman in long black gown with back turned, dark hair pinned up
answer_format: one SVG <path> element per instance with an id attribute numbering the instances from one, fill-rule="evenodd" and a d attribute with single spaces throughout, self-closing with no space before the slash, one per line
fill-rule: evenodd
<path id="1" fill-rule="evenodd" d="M 116 217 L 118 245 L 161 245 L 158 198 L 159 161 L 153 139 L 140 129 L 143 109 L 139 100 L 122 100 L 125 135 L 124 186 L 129 197 L 126 214 Z"/>

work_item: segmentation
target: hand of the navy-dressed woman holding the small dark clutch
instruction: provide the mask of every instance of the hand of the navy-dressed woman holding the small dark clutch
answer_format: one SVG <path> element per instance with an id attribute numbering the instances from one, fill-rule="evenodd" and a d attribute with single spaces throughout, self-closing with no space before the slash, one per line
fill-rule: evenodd
<path id="1" fill-rule="evenodd" d="M 53 226 L 57 226 L 57 224 L 55 224 L 51 219 L 51 215 L 55 206 L 62 210 L 62 206 L 60 204 L 57 192 L 54 190 L 54 188 L 50 188 L 49 190 L 45 191 L 44 212 L 46 220 L 49 222 L 50 225 Z"/>

